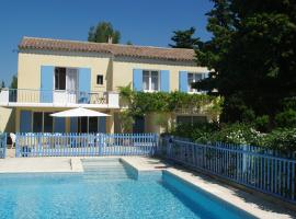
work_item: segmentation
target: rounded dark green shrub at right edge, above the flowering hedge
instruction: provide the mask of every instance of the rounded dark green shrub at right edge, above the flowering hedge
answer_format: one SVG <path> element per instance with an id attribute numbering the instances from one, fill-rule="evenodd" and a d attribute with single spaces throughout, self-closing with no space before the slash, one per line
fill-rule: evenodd
<path id="1" fill-rule="evenodd" d="M 277 114 L 275 124 L 281 128 L 296 128 L 296 111 L 291 108 Z"/>

